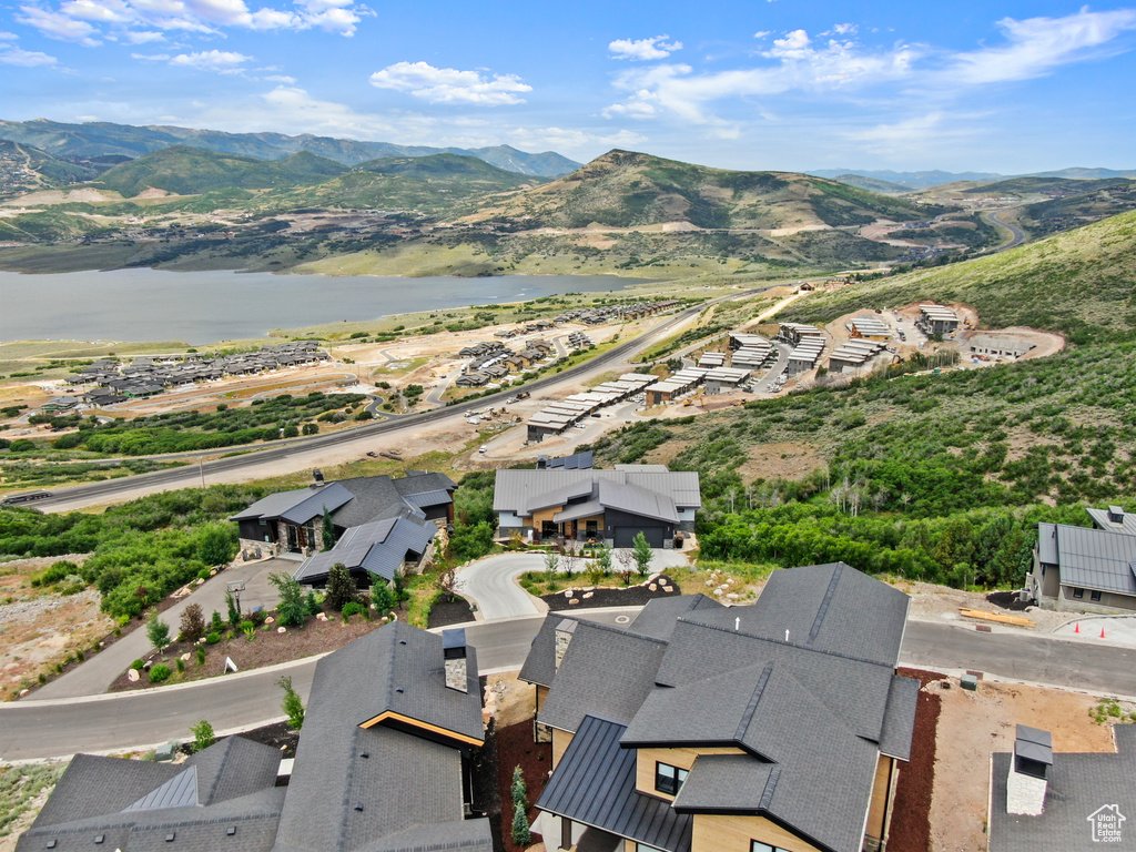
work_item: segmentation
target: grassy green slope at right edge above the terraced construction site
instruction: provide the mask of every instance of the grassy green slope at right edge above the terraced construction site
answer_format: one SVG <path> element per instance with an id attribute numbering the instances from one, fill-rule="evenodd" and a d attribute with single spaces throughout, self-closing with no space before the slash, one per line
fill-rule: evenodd
<path id="1" fill-rule="evenodd" d="M 964 302 L 987 327 L 1026 325 L 1078 343 L 1136 329 L 1136 211 L 963 264 L 817 294 L 786 319 L 829 321 L 862 307 Z"/>

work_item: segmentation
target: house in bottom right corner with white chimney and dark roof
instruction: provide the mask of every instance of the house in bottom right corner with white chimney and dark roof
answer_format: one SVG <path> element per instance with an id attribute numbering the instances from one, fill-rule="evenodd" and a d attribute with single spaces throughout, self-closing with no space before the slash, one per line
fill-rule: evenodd
<path id="1" fill-rule="evenodd" d="M 1047 730 L 1019 725 L 1013 751 L 991 755 L 989 852 L 1128 849 L 1136 727 L 1114 725 L 1112 735 L 1114 753 L 1060 753 Z"/>

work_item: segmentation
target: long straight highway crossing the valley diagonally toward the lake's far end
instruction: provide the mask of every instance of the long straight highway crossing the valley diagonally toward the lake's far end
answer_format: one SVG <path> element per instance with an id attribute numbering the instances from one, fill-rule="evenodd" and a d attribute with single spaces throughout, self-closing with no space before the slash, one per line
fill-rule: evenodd
<path id="1" fill-rule="evenodd" d="M 770 285 L 770 287 L 772 285 Z M 653 328 L 636 337 L 624 341 L 619 345 L 613 346 L 595 358 L 584 361 L 575 367 L 570 367 L 562 373 L 537 378 L 534 382 L 526 384 L 523 389 L 509 387 L 494 394 L 481 396 L 476 400 L 476 404 L 478 407 L 483 407 L 485 404 L 498 403 L 501 400 L 516 394 L 518 390 L 537 393 L 542 390 L 565 383 L 566 381 L 577 378 L 582 374 L 619 364 L 637 350 L 649 345 L 654 340 L 665 336 L 667 332 L 675 326 L 696 317 L 700 312 L 705 310 L 707 306 L 754 295 L 755 293 L 760 293 L 770 287 L 757 287 L 753 290 L 740 291 L 737 293 L 729 293 L 727 295 L 718 296 L 717 299 L 711 299 L 690 308 L 685 308 L 668 317 L 665 321 Z M 199 484 L 200 478 L 211 478 L 214 483 L 240 482 L 242 473 L 247 474 L 245 478 L 252 478 L 254 476 L 254 473 L 252 473 L 253 468 L 278 461 L 281 459 L 298 457 L 311 451 L 341 446 L 353 442 L 364 442 L 374 437 L 391 436 L 398 434 L 399 432 L 416 429 L 424 424 L 437 420 L 450 418 L 460 419 L 461 411 L 458 410 L 459 408 L 460 407 L 458 406 L 451 406 L 448 408 L 440 408 L 434 411 L 407 415 L 404 417 L 384 420 L 382 423 L 366 424 L 345 432 L 335 432 L 327 435 L 314 435 L 308 438 L 299 438 L 286 446 L 274 446 L 259 452 L 245 452 L 240 456 L 207 461 L 201 466 L 201 469 L 199 469 L 198 466 L 181 467 L 169 470 L 158 470 L 150 474 L 140 474 L 137 476 L 125 476 L 118 479 L 92 483 L 90 485 L 78 485 L 72 488 L 62 488 L 55 492 L 51 498 L 37 501 L 35 507 L 42 511 L 69 511 L 73 509 L 82 509 L 87 506 L 112 502 L 116 498 L 123 498 L 125 495 L 139 495 L 157 491 L 192 487 Z M 239 451 L 240 448 L 233 448 L 233 450 Z M 294 459 L 294 463 L 298 469 L 306 466 L 306 462 L 300 458 Z M 262 475 L 268 474 L 264 473 Z"/>

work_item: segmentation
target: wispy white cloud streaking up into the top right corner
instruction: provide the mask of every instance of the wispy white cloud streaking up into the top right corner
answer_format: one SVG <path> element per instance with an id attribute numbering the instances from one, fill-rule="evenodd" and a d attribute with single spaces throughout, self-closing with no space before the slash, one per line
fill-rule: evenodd
<path id="1" fill-rule="evenodd" d="M 1136 30 L 1136 10 L 1085 7 L 1063 18 L 1003 18 L 997 25 L 1009 44 L 959 53 L 950 62 L 950 81 L 983 85 L 1031 80 L 1061 65 L 1119 52 L 1126 48 L 1110 42 Z"/>

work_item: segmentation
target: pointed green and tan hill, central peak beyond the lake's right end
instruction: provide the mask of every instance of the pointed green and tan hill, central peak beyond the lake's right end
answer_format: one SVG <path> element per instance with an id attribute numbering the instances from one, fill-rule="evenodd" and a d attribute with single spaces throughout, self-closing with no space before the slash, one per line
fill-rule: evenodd
<path id="1" fill-rule="evenodd" d="M 484 215 L 536 227 L 690 222 L 704 228 L 784 228 L 921 219 L 945 209 L 821 177 L 730 172 L 616 150 Z"/>

